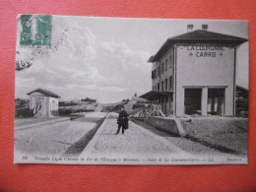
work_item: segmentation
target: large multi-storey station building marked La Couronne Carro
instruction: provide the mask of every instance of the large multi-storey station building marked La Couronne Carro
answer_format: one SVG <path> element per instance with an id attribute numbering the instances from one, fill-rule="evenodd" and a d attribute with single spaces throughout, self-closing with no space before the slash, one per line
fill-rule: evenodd
<path id="1" fill-rule="evenodd" d="M 236 50 L 247 39 L 202 30 L 168 38 L 153 63 L 152 91 L 141 96 L 164 114 L 234 115 Z"/>

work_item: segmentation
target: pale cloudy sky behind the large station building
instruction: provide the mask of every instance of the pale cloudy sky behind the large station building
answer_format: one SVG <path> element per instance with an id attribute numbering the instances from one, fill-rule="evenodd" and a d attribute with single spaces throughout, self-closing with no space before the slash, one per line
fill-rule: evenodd
<path id="1" fill-rule="evenodd" d="M 18 20 L 19 22 L 19 20 Z M 38 55 L 32 67 L 16 71 L 16 97 L 29 98 L 37 88 L 51 91 L 61 100 L 96 98 L 101 103 L 141 96 L 151 91 L 151 55 L 171 36 L 187 32 L 187 24 L 200 30 L 248 38 L 244 21 L 117 19 L 94 17 L 52 18 L 52 45 L 68 28 L 56 51 Z M 32 47 L 19 46 L 17 59 L 25 58 Z M 248 88 L 248 42 L 237 49 L 238 85 Z"/>

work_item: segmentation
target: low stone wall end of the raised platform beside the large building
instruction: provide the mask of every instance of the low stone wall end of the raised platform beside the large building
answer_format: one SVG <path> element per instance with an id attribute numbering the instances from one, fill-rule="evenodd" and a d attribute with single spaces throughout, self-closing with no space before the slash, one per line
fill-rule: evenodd
<path id="1" fill-rule="evenodd" d="M 177 127 L 175 119 L 169 119 L 164 117 L 148 117 L 144 119 L 144 122 L 170 134 L 180 136 L 181 133 Z"/>

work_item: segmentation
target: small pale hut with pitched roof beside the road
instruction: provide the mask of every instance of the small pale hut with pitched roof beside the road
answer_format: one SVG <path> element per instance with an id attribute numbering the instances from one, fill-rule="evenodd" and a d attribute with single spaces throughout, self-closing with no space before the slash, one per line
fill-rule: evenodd
<path id="1" fill-rule="evenodd" d="M 36 89 L 27 94 L 30 96 L 30 109 L 36 117 L 52 117 L 58 114 L 58 95 L 43 89 Z"/>

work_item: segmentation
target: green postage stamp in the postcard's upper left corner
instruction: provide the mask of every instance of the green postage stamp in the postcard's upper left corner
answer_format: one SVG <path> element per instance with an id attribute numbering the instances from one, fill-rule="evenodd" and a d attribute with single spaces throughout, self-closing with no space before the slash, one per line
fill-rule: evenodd
<path id="1" fill-rule="evenodd" d="M 51 45 L 51 16 L 22 15 L 21 45 Z"/>

